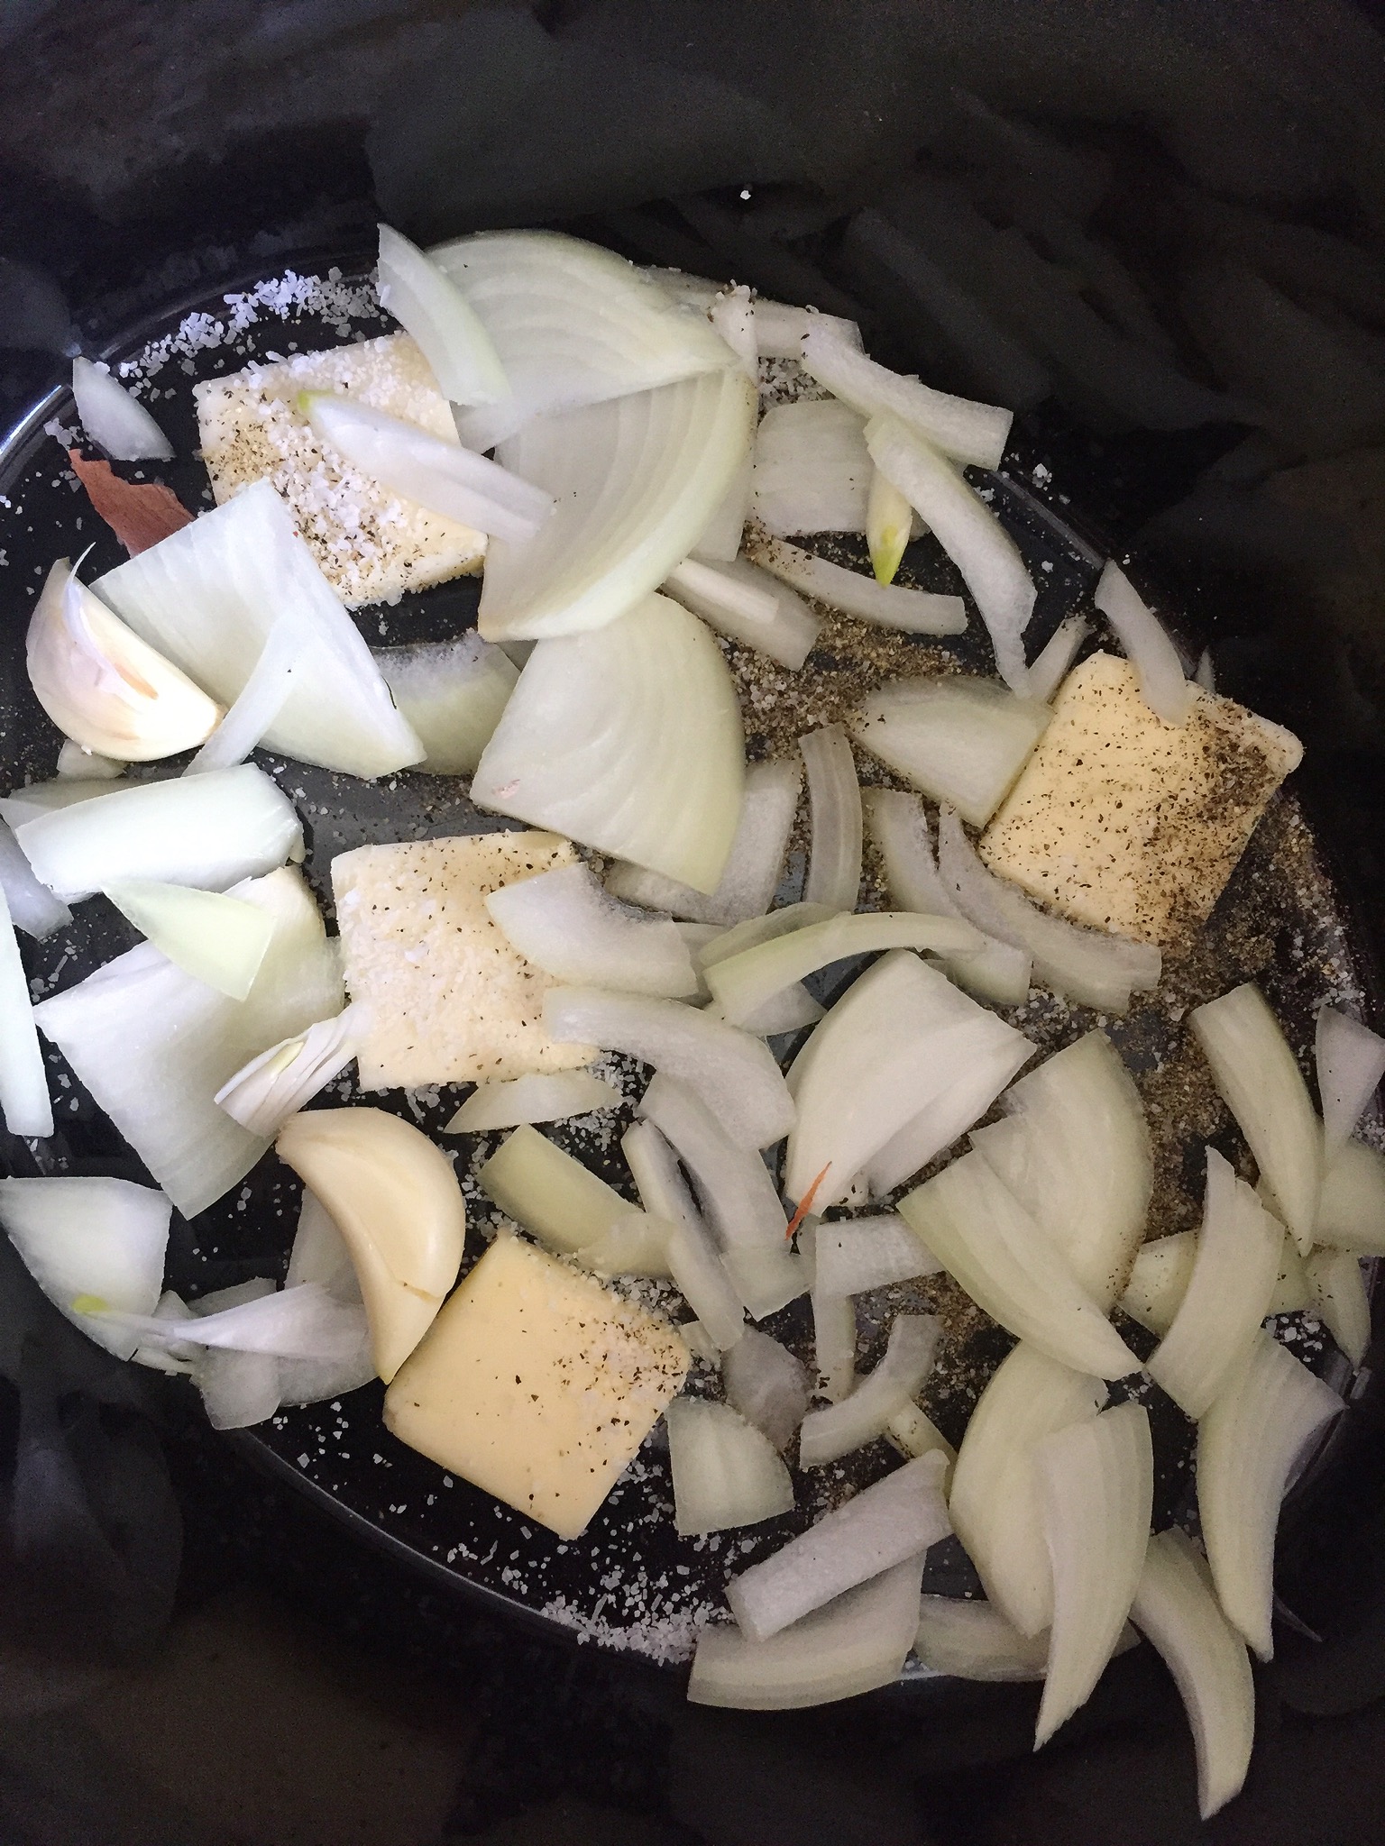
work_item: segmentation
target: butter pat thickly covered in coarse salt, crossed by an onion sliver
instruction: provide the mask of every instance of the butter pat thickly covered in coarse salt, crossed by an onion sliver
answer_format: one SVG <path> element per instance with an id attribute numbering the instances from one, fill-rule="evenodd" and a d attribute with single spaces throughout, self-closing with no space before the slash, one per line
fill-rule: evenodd
<path id="1" fill-rule="evenodd" d="M 301 391 L 347 391 L 371 410 L 456 441 L 447 399 L 408 334 L 295 353 L 194 386 L 216 504 L 253 480 L 270 480 L 347 609 L 399 602 L 404 591 L 480 570 L 486 535 L 403 500 L 323 447 L 299 410 Z"/>

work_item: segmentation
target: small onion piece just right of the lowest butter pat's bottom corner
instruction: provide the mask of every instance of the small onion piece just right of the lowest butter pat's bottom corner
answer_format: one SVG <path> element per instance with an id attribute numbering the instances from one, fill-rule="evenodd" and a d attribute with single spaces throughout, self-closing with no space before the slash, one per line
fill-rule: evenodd
<path id="1" fill-rule="evenodd" d="M 774 1444 L 728 1403 L 674 1397 L 665 1416 L 681 1538 L 759 1525 L 794 1510 L 794 1482 Z"/>

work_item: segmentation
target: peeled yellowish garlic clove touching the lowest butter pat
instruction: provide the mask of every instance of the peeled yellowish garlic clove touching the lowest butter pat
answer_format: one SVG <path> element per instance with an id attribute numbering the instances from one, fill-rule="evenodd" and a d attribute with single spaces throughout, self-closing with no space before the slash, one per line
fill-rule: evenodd
<path id="1" fill-rule="evenodd" d="M 452 1163 L 410 1122 L 366 1108 L 294 1115 L 275 1146 L 345 1239 L 388 1384 L 462 1265 L 467 1213 Z"/>

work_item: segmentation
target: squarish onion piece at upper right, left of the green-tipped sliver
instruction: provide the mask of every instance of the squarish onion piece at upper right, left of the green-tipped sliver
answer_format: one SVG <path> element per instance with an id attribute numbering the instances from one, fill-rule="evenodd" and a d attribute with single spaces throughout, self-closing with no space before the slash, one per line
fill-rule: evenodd
<path id="1" fill-rule="evenodd" d="M 753 517 L 776 537 L 864 532 L 870 456 L 846 404 L 774 404 L 755 432 Z M 801 585 L 796 585 L 801 587 Z"/>

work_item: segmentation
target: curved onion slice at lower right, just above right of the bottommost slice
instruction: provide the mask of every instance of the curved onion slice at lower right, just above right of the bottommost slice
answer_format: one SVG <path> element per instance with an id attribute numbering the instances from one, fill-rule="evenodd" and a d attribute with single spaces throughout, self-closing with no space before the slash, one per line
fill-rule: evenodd
<path id="1" fill-rule="evenodd" d="M 1274 1654 L 1274 1530 L 1289 1469 L 1341 1397 L 1258 1333 L 1197 1431 L 1197 1504 L 1217 1600 L 1261 1660 Z"/>

